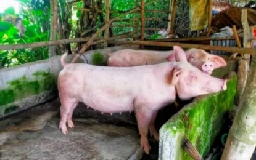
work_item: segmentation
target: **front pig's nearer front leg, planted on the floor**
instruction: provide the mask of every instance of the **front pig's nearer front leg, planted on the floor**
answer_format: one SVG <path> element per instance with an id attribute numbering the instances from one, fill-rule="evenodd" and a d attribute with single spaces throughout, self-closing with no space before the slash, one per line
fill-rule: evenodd
<path id="1" fill-rule="evenodd" d="M 147 140 L 147 134 L 153 111 L 145 111 L 143 107 L 135 108 L 134 111 L 138 123 L 139 134 L 141 135 L 141 148 L 144 150 L 146 154 L 149 154 L 151 146 L 149 145 L 149 141 Z"/>

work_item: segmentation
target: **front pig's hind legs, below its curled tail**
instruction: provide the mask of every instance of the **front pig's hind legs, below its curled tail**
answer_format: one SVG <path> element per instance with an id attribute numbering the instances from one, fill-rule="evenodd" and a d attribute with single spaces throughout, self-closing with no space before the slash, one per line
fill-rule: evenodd
<path id="1" fill-rule="evenodd" d="M 60 98 L 61 106 L 60 106 L 60 124 L 59 129 L 61 129 L 62 134 L 68 134 L 66 123 L 68 121 L 68 127 L 73 125 L 72 122 L 72 114 L 75 106 L 77 105 L 77 101 L 75 98 Z"/>

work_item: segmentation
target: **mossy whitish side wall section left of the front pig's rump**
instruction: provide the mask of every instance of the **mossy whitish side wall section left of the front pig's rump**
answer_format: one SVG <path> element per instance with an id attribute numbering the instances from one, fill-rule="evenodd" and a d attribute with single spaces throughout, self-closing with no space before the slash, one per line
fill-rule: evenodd
<path id="1" fill-rule="evenodd" d="M 0 70 L 0 118 L 54 97 L 49 60 Z"/>

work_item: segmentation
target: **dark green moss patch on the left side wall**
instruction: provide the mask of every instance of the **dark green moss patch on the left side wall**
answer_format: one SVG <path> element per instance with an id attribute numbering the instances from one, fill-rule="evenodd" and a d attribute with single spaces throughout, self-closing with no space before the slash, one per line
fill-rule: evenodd
<path id="1" fill-rule="evenodd" d="M 0 90 L 0 114 L 10 113 L 17 107 L 5 108 L 9 103 L 21 100 L 31 95 L 39 94 L 45 90 L 56 89 L 54 77 L 46 71 L 33 73 L 33 77 L 22 76 L 19 79 L 7 82 L 9 86 Z"/>

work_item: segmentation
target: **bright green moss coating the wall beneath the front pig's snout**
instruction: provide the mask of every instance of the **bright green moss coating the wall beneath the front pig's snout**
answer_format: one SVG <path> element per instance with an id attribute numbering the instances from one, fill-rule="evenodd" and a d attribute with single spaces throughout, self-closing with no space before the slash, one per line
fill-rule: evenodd
<path id="1" fill-rule="evenodd" d="M 206 95 L 205 98 L 184 106 L 164 126 L 165 132 L 187 137 L 202 156 L 206 156 L 215 137 L 220 132 L 223 116 L 232 110 L 236 94 L 236 74 L 231 75 L 224 92 Z M 173 126 L 176 126 L 175 130 Z M 178 159 L 192 159 L 181 147 Z"/>

